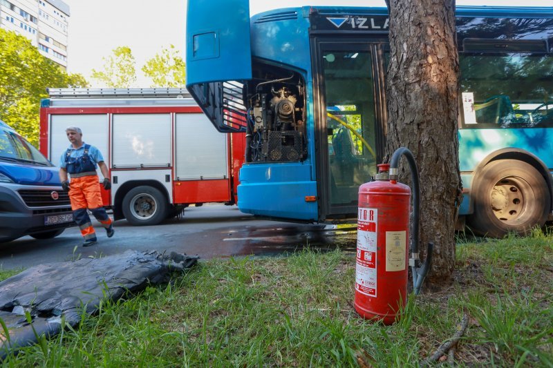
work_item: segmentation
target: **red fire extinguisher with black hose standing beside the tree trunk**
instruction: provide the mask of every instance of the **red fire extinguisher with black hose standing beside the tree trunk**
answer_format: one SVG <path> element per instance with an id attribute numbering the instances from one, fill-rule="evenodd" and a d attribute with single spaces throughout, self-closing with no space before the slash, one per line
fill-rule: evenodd
<path id="1" fill-rule="evenodd" d="M 397 165 L 402 155 L 406 155 L 411 166 L 415 191 L 411 246 L 408 246 L 411 190 L 397 182 Z M 375 181 L 359 187 L 354 305 L 362 317 L 390 325 L 406 305 L 409 264 L 413 271 L 413 288 L 418 293 L 429 270 L 432 245 L 429 244 L 426 261 L 419 268 L 418 172 L 411 151 L 399 148 L 391 164 L 377 166 L 379 172 Z"/>

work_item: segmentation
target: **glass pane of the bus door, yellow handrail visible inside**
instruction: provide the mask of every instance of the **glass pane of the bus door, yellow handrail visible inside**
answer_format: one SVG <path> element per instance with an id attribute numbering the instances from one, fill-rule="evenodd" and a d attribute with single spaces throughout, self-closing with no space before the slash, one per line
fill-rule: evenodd
<path id="1" fill-rule="evenodd" d="M 376 172 L 371 53 L 332 50 L 323 58 L 330 204 L 351 204 Z"/>

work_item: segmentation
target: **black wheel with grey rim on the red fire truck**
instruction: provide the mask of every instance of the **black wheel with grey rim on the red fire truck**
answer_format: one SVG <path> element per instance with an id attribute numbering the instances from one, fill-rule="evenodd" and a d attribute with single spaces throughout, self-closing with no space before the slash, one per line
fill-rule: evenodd
<path id="1" fill-rule="evenodd" d="M 135 226 L 157 225 L 167 217 L 167 200 L 156 188 L 137 186 L 123 198 L 123 214 Z"/>

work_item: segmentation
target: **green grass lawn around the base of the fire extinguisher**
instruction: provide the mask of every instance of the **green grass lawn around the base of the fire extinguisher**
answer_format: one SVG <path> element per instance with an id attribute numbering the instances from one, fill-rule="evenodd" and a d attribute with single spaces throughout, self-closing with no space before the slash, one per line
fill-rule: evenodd
<path id="1" fill-rule="evenodd" d="M 103 304 L 77 329 L 4 365 L 412 366 L 468 313 L 461 365 L 553 366 L 553 235 L 457 249 L 451 282 L 411 296 L 393 326 L 355 313 L 354 254 L 306 249 L 201 262 L 169 285 Z"/>

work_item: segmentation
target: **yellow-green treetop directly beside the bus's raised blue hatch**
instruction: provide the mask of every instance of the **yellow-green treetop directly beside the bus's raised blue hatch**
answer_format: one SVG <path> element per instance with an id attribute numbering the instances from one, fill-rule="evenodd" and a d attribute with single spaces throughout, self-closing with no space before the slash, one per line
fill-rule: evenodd
<path id="1" fill-rule="evenodd" d="M 142 67 L 146 77 L 152 79 L 151 87 L 175 88 L 185 86 L 185 61 L 174 45 L 163 48 Z"/>

